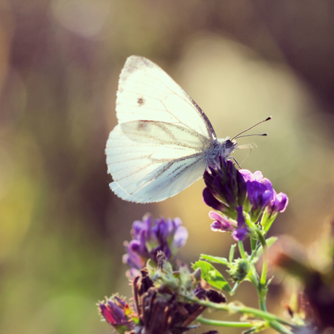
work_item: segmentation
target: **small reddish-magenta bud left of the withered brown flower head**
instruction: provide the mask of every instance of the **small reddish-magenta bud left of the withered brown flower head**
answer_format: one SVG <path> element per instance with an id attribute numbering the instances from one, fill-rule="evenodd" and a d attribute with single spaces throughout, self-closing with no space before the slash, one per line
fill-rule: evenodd
<path id="1" fill-rule="evenodd" d="M 105 303 L 99 303 L 99 309 L 105 320 L 117 331 L 123 332 L 134 328 L 134 324 L 128 319 L 131 310 L 121 298 L 113 296 L 106 299 Z"/>

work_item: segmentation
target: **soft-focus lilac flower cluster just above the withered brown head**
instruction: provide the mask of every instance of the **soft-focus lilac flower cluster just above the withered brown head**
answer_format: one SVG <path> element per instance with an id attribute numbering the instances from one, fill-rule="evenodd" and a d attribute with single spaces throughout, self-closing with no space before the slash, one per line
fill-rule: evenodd
<path id="1" fill-rule="evenodd" d="M 164 252 L 167 260 L 172 258 L 179 248 L 184 246 L 188 238 L 188 231 L 179 218 L 174 220 L 162 217 L 153 221 L 151 214 L 144 215 L 143 220 L 133 222 L 130 242 L 125 241 L 127 254 L 123 255 L 123 262 L 131 267 L 127 272 L 133 279 L 139 270 L 144 268 L 147 260 L 157 262 L 157 253 Z"/>

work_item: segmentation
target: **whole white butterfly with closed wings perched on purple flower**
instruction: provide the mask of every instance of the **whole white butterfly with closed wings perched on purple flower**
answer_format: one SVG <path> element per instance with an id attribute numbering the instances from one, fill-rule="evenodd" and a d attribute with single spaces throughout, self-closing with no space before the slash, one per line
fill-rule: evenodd
<path id="1" fill-rule="evenodd" d="M 158 65 L 130 56 L 117 91 L 118 125 L 106 146 L 110 188 L 127 201 L 159 202 L 198 180 L 237 148 L 217 139 L 190 96 Z"/>

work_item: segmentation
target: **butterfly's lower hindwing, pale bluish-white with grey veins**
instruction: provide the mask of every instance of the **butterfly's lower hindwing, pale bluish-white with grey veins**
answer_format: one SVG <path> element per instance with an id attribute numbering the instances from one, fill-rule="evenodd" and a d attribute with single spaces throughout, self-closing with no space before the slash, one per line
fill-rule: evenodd
<path id="1" fill-rule="evenodd" d="M 205 170 L 209 139 L 193 130 L 154 121 L 118 124 L 106 154 L 111 189 L 121 198 L 157 202 L 198 180 Z"/>

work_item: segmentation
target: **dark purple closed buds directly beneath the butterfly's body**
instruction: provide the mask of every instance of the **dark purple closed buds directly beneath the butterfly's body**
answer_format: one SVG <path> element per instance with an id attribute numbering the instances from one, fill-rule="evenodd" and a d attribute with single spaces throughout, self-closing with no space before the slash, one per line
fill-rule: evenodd
<path id="1" fill-rule="evenodd" d="M 219 165 L 205 171 L 203 190 L 204 202 L 230 218 L 236 218 L 236 207 L 243 205 L 246 198 L 246 184 L 234 164 L 219 156 Z"/>

